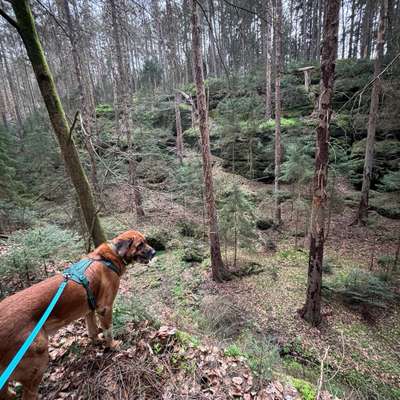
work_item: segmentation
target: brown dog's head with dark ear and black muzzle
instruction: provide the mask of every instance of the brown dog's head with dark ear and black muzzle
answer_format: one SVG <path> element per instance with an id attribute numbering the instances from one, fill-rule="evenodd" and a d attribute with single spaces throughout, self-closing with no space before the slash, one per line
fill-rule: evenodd
<path id="1" fill-rule="evenodd" d="M 121 233 L 111 242 L 115 252 L 126 264 L 134 261 L 147 264 L 156 254 L 156 251 L 147 244 L 146 238 L 137 231 Z"/>

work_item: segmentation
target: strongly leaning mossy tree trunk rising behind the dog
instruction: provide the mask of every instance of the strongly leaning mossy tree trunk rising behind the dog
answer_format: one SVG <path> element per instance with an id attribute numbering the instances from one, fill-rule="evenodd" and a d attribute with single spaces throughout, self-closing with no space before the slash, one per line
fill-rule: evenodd
<path id="1" fill-rule="evenodd" d="M 18 32 L 32 63 L 51 124 L 60 144 L 65 166 L 78 194 L 86 226 L 94 244 L 98 246 L 107 239 L 97 216 L 89 182 L 79 160 L 64 109 L 44 56 L 28 0 L 15 0 L 12 2 L 12 7 L 18 23 Z"/>

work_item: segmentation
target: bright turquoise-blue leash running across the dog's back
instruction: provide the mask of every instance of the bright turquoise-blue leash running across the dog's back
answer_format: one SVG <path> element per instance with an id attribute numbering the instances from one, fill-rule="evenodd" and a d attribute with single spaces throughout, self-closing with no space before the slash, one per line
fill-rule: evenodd
<path id="1" fill-rule="evenodd" d="M 53 308 L 55 307 L 58 299 L 60 298 L 62 292 L 64 291 L 67 283 L 68 283 L 67 278 L 61 282 L 61 285 L 58 287 L 56 294 L 54 295 L 54 297 L 51 300 L 50 304 L 48 305 L 46 311 L 40 318 L 39 322 L 37 323 L 37 325 L 35 326 L 33 331 L 30 333 L 30 335 L 28 336 L 28 339 L 26 339 L 25 343 L 19 348 L 18 353 L 11 360 L 10 364 L 8 364 L 8 367 L 0 375 L 0 390 L 6 384 L 6 382 L 10 378 L 11 374 L 14 372 L 15 368 L 18 366 L 18 364 L 22 360 L 22 357 L 25 355 L 25 353 L 29 349 L 29 346 L 35 340 L 37 334 L 39 333 L 39 331 L 42 329 L 43 325 L 47 321 L 47 318 L 49 318 L 50 313 L 53 311 Z"/>

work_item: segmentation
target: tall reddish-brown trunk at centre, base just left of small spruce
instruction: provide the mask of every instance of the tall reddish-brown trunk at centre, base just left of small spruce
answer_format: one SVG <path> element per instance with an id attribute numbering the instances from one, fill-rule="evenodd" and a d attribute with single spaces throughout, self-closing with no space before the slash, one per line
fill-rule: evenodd
<path id="1" fill-rule="evenodd" d="M 212 277 L 221 282 L 229 277 L 221 257 L 221 248 L 218 232 L 217 210 L 214 200 L 214 185 L 212 177 L 212 163 L 210 152 L 210 134 L 208 130 L 208 111 L 206 106 L 206 92 L 204 87 L 203 60 L 201 54 L 200 26 L 198 22 L 197 1 L 192 4 L 192 56 L 193 70 L 197 90 L 197 110 L 199 113 L 199 125 L 203 157 L 204 190 L 207 204 L 208 228 L 210 236 L 210 253 Z"/>

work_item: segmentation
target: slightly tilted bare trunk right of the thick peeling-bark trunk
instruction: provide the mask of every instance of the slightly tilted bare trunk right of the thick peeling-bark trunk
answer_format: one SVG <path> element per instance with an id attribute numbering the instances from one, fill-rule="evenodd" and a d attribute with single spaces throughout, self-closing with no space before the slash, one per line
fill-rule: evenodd
<path id="1" fill-rule="evenodd" d="M 364 171 L 363 171 L 363 182 L 361 188 L 360 204 L 353 224 L 365 225 L 368 219 L 368 200 L 369 190 L 371 187 L 371 178 L 374 163 L 374 147 L 375 147 L 375 132 L 376 132 L 376 121 L 378 119 L 379 111 L 379 97 L 382 92 L 381 81 L 378 75 L 382 71 L 383 53 L 385 47 L 385 29 L 387 20 L 387 9 L 388 0 L 381 0 L 381 13 L 379 18 L 379 30 L 377 38 L 377 57 L 375 60 L 374 77 L 375 81 L 372 86 L 371 104 L 369 109 L 368 117 L 368 135 L 367 143 L 365 147 L 365 159 L 364 159 Z"/>

